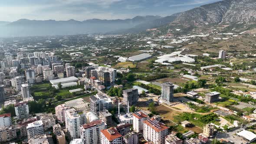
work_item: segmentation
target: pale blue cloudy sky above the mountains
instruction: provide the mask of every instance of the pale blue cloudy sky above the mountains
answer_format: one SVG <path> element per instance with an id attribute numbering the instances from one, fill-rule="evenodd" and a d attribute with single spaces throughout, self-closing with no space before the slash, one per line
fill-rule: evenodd
<path id="1" fill-rule="evenodd" d="M 1 0 L 0 21 L 169 16 L 220 0 Z"/>

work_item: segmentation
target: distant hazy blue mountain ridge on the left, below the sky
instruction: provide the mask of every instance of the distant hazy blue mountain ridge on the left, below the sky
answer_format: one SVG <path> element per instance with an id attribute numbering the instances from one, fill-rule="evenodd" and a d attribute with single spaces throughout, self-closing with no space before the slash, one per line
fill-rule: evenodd
<path id="1" fill-rule="evenodd" d="M 129 29 L 142 23 L 148 23 L 161 16 L 136 16 L 125 20 L 27 20 L 20 19 L 0 26 L 0 36 L 44 36 L 75 35 L 89 33 L 107 33 L 118 29 Z"/>

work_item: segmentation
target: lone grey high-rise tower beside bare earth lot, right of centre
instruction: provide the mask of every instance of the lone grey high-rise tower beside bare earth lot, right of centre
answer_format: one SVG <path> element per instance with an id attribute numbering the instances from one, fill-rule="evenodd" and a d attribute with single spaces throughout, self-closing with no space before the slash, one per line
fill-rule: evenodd
<path id="1" fill-rule="evenodd" d="M 174 96 L 174 85 L 171 82 L 166 82 L 162 84 L 161 88 L 161 99 L 163 102 L 170 103 Z"/>

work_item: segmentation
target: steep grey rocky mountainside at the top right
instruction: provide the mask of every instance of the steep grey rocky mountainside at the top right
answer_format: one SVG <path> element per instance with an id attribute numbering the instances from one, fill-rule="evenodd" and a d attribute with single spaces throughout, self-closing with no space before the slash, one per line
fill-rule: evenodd
<path id="1" fill-rule="evenodd" d="M 248 22 L 256 19 L 256 0 L 223 0 L 181 13 L 179 23 Z"/>

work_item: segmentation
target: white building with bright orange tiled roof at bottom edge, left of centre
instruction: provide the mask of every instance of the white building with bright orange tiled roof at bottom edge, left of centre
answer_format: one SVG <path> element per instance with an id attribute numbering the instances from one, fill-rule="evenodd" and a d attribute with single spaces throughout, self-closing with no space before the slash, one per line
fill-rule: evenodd
<path id="1" fill-rule="evenodd" d="M 100 144 L 122 144 L 122 135 L 115 128 L 101 130 Z"/>

